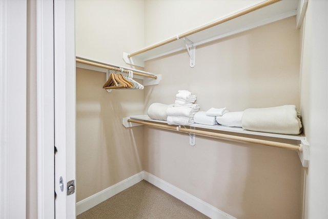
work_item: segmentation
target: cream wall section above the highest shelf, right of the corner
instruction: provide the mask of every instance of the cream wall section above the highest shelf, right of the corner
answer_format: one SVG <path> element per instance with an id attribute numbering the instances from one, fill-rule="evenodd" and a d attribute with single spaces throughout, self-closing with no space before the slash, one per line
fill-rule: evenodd
<path id="1" fill-rule="evenodd" d="M 261 1 L 145 1 L 146 46 L 185 33 L 259 2 Z"/>

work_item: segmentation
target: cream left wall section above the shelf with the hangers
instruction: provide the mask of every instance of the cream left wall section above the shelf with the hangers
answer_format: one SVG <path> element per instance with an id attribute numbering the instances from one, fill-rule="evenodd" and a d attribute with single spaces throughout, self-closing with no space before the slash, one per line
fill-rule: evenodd
<path id="1" fill-rule="evenodd" d="M 123 52 L 144 47 L 144 1 L 77 0 L 76 55 L 124 66 Z"/>

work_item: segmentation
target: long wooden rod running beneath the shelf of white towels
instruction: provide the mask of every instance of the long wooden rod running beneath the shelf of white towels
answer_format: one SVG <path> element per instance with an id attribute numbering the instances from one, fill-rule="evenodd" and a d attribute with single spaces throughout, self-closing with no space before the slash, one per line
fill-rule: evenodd
<path id="1" fill-rule="evenodd" d="M 250 138 L 250 137 L 241 137 L 241 136 L 220 134 L 220 133 L 215 133 L 215 132 L 201 131 L 201 130 L 187 129 L 187 128 L 177 128 L 175 126 L 162 125 L 162 124 L 156 124 L 156 123 L 148 123 L 148 122 L 137 121 L 137 120 L 128 120 L 128 122 L 138 123 L 138 124 L 148 125 L 148 126 L 154 126 L 154 127 L 159 127 L 159 128 L 165 128 L 165 129 L 171 129 L 171 130 L 175 130 L 175 131 L 183 131 L 183 132 L 190 132 L 190 133 L 207 135 L 207 136 L 212 136 L 212 137 L 225 138 L 225 139 L 241 141 L 241 142 L 255 143 L 255 144 L 267 145 L 267 146 L 278 147 L 278 148 L 285 148 L 285 149 L 289 149 L 289 150 L 302 152 L 301 144 L 292 145 L 292 144 L 287 144 L 287 143 L 260 140 L 260 139 Z"/>

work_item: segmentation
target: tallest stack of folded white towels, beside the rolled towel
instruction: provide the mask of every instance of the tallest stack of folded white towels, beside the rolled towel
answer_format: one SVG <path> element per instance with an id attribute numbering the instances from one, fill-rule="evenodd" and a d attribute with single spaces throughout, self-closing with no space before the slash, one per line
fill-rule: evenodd
<path id="1" fill-rule="evenodd" d="M 179 90 L 176 94 L 175 104 L 166 110 L 169 125 L 189 126 L 194 123 L 194 115 L 199 111 L 195 104 L 196 95 L 188 90 Z"/>

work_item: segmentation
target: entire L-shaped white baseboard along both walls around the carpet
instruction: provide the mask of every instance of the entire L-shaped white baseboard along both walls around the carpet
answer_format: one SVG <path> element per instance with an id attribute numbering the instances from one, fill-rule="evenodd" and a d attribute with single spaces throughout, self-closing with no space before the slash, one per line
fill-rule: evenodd
<path id="1" fill-rule="evenodd" d="M 124 181 L 121 181 L 103 191 L 100 191 L 85 200 L 82 200 L 76 203 L 76 215 L 81 214 L 90 208 L 98 205 L 101 202 L 104 202 L 108 198 L 116 195 L 117 193 L 133 186 L 134 184 L 139 183 L 142 180 L 146 180 L 147 182 L 153 184 L 154 186 L 160 188 L 161 190 L 169 193 L 170 195 L 178 198 L 182 202 L 187 205 L 195 208 L 197 211 L 207 215 L 210 218 L 215 219 L 236 219 L 214 206 L 200 200 L 199 198 L 161 180 L 157 176 L 154 176 L 146 171 L 139 172 Z"/>

